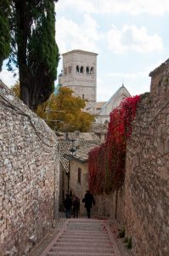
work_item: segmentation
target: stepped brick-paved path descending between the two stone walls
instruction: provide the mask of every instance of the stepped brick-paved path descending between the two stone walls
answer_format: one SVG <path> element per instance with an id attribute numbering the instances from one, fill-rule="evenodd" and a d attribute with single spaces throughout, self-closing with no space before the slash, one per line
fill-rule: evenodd
<path id="1" fill-rule="evenodd" d="M 109 225 L 93 218 L 70 218 L 41 256 L 121 256 Z M 123 254 L 124 255 L 124 254 Z"/>

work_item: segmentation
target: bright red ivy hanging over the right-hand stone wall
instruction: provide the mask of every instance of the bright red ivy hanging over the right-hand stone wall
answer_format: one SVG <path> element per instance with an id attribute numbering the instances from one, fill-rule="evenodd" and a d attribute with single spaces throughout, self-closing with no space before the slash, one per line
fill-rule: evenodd
<path id="1" fill-rule="evenodd" d="M 127 137 L 132 134 L 140 96 L 125 98 L 110 113 L 106 141 L 88 155 L 89 188 L 95 193 L 109 193 L 124 182 Z"/>

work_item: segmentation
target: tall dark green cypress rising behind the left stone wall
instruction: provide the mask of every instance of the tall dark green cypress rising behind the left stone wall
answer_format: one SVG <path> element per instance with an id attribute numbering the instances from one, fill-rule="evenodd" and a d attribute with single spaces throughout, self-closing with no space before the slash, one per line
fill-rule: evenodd
<path id="1" fill-rule="evenodd" d="M 59 62 L 54 2 L 57 0 L 12 0 L 11 4 L 8 67 L 12 69 L 12 63 L 19 67 L 20 98 L 31 109 L 54 91 Z"/>

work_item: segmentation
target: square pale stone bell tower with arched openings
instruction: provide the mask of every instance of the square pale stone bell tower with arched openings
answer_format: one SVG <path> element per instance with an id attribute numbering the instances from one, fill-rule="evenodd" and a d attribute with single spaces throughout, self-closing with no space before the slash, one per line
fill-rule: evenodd
<path id="1" fill-rule="evenodd" d="M 87 99 L 85 110 L 89 113 L 94 113 L 96 102 L 96 70 L 96 53 L 74 49 L 63 54 L 62 86 Z"/>

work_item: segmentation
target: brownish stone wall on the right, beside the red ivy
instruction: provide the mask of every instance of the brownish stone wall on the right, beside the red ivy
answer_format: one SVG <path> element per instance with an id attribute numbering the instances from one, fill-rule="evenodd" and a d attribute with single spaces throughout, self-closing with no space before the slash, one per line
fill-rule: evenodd
<path id="1" fill-rule="evenodd" d="M 135 255 L 169 255 L 169 61 L 150 73 L 127 142 L 125 218 Z"/>

